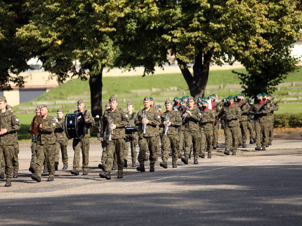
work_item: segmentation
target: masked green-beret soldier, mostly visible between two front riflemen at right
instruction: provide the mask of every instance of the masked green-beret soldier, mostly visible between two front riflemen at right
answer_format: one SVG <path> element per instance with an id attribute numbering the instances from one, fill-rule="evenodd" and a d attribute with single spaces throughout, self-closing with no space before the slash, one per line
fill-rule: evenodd
<path id="1" fill-rule="evenodd" d="M 244 95 L 242 93 L 237 95 L 237 102 L 239 110 L 241 110 L 241 118 L 239 119 L 241 135 L 242 135 L 242 147 L 246 148 L 247 140 L 247 115 L 249 113 L 249 105 L 247 100 L 244 101 Z"/>

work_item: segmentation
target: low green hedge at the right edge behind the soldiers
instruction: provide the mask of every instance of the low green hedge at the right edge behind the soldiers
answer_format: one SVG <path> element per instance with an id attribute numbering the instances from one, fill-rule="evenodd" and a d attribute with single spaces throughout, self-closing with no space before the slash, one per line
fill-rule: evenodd
<path id="1" fill-rule="evenodd" d="M 302 127 L 302 113 L 299 114 L 278 114 L 275 115 L 274 127 Z"/>

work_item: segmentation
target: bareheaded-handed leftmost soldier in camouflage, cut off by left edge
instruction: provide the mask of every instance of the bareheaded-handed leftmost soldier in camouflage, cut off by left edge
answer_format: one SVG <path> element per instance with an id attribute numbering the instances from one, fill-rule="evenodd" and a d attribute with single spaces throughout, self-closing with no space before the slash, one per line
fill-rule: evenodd
<path id="1" fill-rule="evenodd" d="M 5 96 L 0 96 L 0 156 L 4 157 L 5 162 L 5 187 L 11 187 L 11 178 L 14 174 L 13 159 L 15 154 L 15 138 L 13 133 L 20 129 L 20 122 L 14 119 L 13 113 L 6 110 L 6 105 Z M 1 171 L 3 171 L 3 169 L 1 169 Z"/>

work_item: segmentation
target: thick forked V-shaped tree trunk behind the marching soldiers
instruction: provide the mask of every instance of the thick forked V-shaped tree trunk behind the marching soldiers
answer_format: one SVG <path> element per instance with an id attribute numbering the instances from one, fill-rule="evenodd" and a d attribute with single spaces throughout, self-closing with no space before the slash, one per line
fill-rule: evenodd
<path id="1" fill-rule="evenodd" d="M 187 68 L 187 64 L 182 60 L 177 59 L 180 70 L 182 71 L 182 75 L 184 76 L 191 96 L 204 97 L 204 92 L 207 86 L 207 81 L 209 77 L 209 69 L 210 69 L 210 59 L 211 54 L 203 54 L 202 52 L 195 57 L 195 63 L 193 66 L 193 75 Z"/>

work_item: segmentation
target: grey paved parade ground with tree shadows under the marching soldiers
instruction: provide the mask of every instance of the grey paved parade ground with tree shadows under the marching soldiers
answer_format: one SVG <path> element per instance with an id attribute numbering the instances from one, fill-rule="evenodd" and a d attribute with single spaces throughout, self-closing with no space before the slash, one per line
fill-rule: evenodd
<path id="1" fill-rule="evenodd" d="M 159 157 L 155 172 L 145 162 L 146 172 L 128 167 L 123 179 L 111 171 L 111 180 L 98 176 L 98 141 L 91 142 L 89 175 L 70 174 L 69 143 L 68 170 L 60 162 L 54 181 L 42 173 L 40 183 L 28 171 L 30 143 L 21 143 L 19 177 L 12 187 L 0 180 L 0 225 L 302 225 L 302 139 L 275 139 L 266 151 L 249 144 L 235 156 L 224 155 L 219 142 L 198 165 L 179 159 L 172 168 L 169 157 L 163 169 Z"/>

